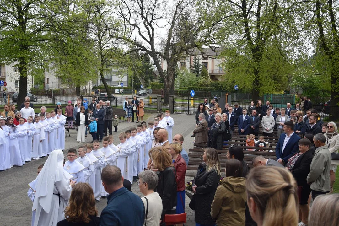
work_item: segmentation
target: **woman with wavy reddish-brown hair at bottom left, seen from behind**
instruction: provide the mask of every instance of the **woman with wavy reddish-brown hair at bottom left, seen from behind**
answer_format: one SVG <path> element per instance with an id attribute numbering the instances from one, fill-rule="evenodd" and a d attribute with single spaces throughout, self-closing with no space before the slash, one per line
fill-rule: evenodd
<path id="1" fill-rule="evenodd" d="M 65 220 L 59 221 L 57 226 L 72 225 L 99 225 L 98 210 L 95 207 L 94 193 L 91 185 L 78 183 L 72 188 L 69 204 L 65 208 Z"/>

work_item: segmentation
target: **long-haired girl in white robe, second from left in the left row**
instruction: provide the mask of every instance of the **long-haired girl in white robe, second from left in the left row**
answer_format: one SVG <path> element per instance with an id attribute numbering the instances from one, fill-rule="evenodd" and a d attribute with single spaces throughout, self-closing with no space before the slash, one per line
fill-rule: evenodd
<path id="1" fill-rule="evenodd" d="M 7 118 L 7 125 L 9 127 L 9 136 L 7 137 L 7 141 L 9 144 L 10 151 L 10 164 L 11 167 L 13 165 L 22 166 L 21 152 L 18 143 L 18 137 L 20 136 L 20 132 L 17 130 L 17 127 L 13 124 L 13 118 Z"/>

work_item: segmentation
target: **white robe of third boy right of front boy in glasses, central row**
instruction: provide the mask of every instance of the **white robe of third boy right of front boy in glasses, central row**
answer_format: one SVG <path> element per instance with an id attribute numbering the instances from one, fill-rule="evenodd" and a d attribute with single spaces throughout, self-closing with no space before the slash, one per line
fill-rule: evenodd
<path id="1" fill-rule="evenodd" d="M 98 159 L 98 161 L 94 164 L 94 168 L 96 169 L 94 197 L 96 200 L 100 200 L 103 187 L 101 183 L 101 170 L 105 167 L 105 154 L 100 150 L 92 150 L 91 153 L 93 153 L 93 155 Z"/>

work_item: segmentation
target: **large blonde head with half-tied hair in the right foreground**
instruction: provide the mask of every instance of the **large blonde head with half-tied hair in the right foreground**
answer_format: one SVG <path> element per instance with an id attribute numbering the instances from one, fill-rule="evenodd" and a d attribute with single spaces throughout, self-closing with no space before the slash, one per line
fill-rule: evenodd
<path id="1" fill-rule="evenodd" d="M 254 167 L 247 175 L 247 204 L 258 226 L 298 225 L 297 183 L 277 166 Z"/>

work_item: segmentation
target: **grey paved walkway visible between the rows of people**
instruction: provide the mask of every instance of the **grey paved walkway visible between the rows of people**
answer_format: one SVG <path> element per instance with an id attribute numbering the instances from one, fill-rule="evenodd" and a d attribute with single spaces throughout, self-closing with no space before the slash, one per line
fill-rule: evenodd
<path id="1" fill-rule="evenodd" d="M 153 119 L 155 116 L 150 115 L 149 119 Z M 172 115 L 175 126 L 173 128 L 173 136 L 180 133 L 184 136 L 183 147 L 188 151 L 193 147 L 193 138 L 191 134 L 195 128 L 195 119 L 192 115 Z M 148 120 L 145 120 L 146 122 Z M 136 126 L 137 123 L 119 123 L 118 133 L 114 133 L 114 144 L 119 144 L 117 138 L 119 132 L 125 129 Z M 70 130 L 71 137 L 65 139 L 65 147 L 77 148 L 79 143 L 76 142 L 76 131 Z M 87 141 L 91 141 L 91 135 L 88 135 Z M 83 143 L 81 144 L 83 145 Z M 64 152 L 65 159 L 66 152 Z M 31 225 L 32 218 L 32 201 L 27 197 L 28 183 L 33 181 L 37 175 L 37 168 L 43 164 L 46 158 L 26 163 L 22 167 L 13 167 L 11 169 L 0 172 L 0 225 L 2 226 L 29 226 Z M 186 178 L 186 181 L 192 178 Z M 132 191 L 139 196 L 143 196 L 139 191 L 137 183 L 133 183 Z M 186 196 L 186 212 L 187 212 L 187 224 L 188 226 L 195 225 L 194 211 L 188 207 L 190 199 Z M 106 199 L 101 199 L 97 204 L 99 215 L 102 209 L 106 206 Z"/>

